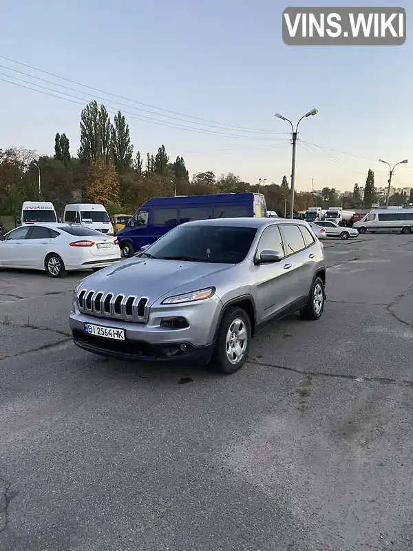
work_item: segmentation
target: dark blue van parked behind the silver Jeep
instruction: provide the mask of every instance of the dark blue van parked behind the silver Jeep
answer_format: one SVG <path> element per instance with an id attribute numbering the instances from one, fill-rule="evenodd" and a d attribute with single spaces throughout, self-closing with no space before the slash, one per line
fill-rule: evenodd
<path id="1" fill-rule="evenodd" d="M 154 197 L 139 207 L 116 237 L 123 255 L 129 258 L 184 222 L 240 216 L 266 216 L 264 195 L 250 193 Z"/>

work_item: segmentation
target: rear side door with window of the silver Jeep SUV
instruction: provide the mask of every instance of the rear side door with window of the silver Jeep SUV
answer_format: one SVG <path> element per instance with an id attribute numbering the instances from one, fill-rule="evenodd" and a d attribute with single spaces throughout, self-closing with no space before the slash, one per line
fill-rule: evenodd
<path id="1" fill-rule="evenodd" d="M 281 262 L 282 267 L 289 275 L 286 293 L 288 304 L 293 304 L 310 291 L 308 245 L 304 241 L 299 226 L 295 224 L 280 224 L 284 251 L 286 257 Z"/>

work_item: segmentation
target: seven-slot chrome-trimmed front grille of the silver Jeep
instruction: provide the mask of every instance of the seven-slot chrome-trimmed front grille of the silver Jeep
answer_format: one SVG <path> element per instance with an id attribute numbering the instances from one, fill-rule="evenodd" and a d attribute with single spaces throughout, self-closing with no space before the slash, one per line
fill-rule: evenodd
<path id="1" fill-rule="evenodd" d="M 76 295 L 76 302 L 82 313 L 98 318 L 145 323 L 149 315 L 149 297 L 82 289 Z"/>

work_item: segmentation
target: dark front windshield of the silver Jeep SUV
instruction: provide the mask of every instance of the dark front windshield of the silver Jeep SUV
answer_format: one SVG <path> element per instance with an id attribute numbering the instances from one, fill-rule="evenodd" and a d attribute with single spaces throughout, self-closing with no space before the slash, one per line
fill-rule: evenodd
<path id="1" fill-rule="evenodd" d="M 182 225 L 153 243 L 142 256 L 164 260 L 237 264 L 246 257 L 255 233 L 256 228 Z"/>

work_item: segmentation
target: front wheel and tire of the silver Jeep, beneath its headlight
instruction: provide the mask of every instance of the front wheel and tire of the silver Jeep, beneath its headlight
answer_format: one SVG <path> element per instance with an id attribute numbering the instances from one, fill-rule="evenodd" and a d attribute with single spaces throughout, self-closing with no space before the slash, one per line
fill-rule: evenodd
<path id="1" fill-rule="evenodd" d="M 231 306 L 221 320 L 211 360 L 214 371 L 231 375 L 245 364 L 251 344 L 251 320 L 246 311 Z"/>

